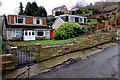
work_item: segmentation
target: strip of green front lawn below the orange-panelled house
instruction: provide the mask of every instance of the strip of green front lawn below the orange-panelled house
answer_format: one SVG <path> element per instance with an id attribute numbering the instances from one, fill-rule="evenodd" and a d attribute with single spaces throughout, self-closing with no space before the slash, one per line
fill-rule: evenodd
<path id="1" fill-rule="evenodd" d="M 55 44 L 67 44 L 70 43 L 71 39 L 66 40 L 42 40 L 42 41 L 8 41 L 7 43 L 11 46 L 29 46 L 41 44 L 42 46 L 50 46 Z"/>

